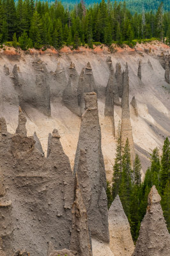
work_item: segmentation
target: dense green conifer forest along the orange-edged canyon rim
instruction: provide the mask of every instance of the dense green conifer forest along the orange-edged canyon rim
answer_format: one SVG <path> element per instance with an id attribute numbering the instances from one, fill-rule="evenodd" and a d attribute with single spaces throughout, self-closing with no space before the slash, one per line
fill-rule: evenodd
<path id="1" fill-rule="evenodd" d="M 34 0 L 0 0 L 0 43 L 13 42 L 22 49 L 63 45 L 74 48 L 93 42 L 133 45 L 133 40 L 167 37 L 170 41 L 170 13 L 161 3 L 156 13 L 132 13 L 126 3 L 104 0 L 86 9 L 84 2 L 72 11 L 61 2 L 53 4 Z"/>

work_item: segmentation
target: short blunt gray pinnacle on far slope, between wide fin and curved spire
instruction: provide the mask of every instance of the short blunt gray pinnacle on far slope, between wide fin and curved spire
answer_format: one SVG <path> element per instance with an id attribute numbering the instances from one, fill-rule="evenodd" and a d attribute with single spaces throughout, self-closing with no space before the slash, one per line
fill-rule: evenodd
<path id="1" fill-rule="evenodd" d="M 55 83 L 50 84 L 50 97 L 55 99 L 55 97 L 62 97 L 67 84 L 65 68 L 59 62 L 53 73 L 53 78 Z"/>

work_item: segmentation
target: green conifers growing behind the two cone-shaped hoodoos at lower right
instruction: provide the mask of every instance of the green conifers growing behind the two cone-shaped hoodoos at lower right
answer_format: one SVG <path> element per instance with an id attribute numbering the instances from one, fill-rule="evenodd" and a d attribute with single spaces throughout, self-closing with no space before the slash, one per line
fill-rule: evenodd
<path id="1" fill-rule="evenodd" d="M 119 133 L 113 169 L 112 187 L 107 182 L 108 207 L 115 196 L 120 195 L 134 241 L 137 241 L 139 236 L 141 221 L 144 218 L 144 214 L 146 214 L 148 205 L 148 194 L 153 185 L 156 186 L 162 198 L 161 205 L 164 211 L 164 218 L 170 232 L 170 142 L 168 138 L 164 141 L 162 156 L 159 156 L 158 148 L 153 150 L 151 166 L 146 171 L 144 181 L 141 182 L 139 156 L 135 156 L 132 168 L 128 140 L 122 149 Z"/>

